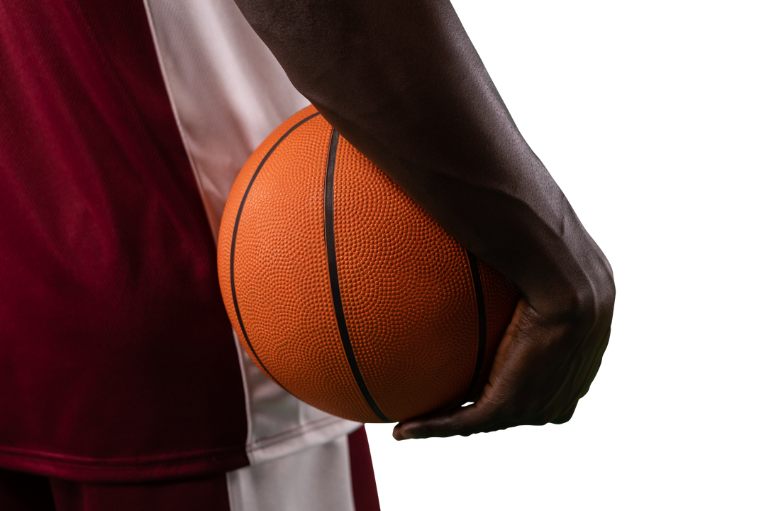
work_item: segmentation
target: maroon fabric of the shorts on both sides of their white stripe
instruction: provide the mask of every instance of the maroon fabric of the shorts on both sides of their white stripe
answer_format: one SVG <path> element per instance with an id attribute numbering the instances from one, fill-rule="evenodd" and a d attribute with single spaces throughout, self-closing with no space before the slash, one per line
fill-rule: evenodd
<path id="1" fill-rule="evenodd" d="M 381 511 L 367 427 L 349 434 L 349 457 L 356 511 Z M 225 473 L 162 483 L 88 484 L 0 469 L 0 509 L 231 511 L 231 504 Z"/>

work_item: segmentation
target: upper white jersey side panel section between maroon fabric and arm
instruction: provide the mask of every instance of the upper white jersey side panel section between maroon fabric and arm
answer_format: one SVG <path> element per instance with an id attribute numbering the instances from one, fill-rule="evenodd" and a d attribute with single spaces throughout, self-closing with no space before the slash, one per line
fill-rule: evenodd
<path id="1" fill-rule="evenodd" d="M 309 106 L 234 0 L 144 0 L 165 85 L 218 238 L 242 165 Z"/>

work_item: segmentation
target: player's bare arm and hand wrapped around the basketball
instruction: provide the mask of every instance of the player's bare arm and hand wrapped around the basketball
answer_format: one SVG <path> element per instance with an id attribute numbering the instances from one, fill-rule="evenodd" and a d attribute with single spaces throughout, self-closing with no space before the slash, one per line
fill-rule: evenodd
<path id="1" fill-rule="evenodd" d="M 522 294 L 476 402 L 395 425 L 391 438 L 571 421 L 611 341 L 614 267 L 522 135 L 454 5 L 235 1 L 319 113 Z"/>

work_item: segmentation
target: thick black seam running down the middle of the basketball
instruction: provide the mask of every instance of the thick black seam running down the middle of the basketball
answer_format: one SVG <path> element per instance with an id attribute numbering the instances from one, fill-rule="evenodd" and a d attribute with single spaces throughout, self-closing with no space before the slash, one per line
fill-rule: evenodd
<path id="1" fill-rule="evenodd" d="M 362 372 L 359 371 L 359 366 L 356 363 L 356 357 L 354 356 L 354 349 L 351 346 L 351 337 L 349 336 L 349 328 L 345 323 L 345 315 L 343 313 L 343 304 L 340 300 L 340 282 L 338 279 L 338 260 L 336 259 L 335 250 L 335 222 L 333 221 L 333 215 L 335 213 L 335 205 L 333 204 L 332 191 L 333 191 L 333 179 L 335 178 L 335 166 L 336 166 L 336 152 L 338 152 L 338 130 L 332 130 L 332 139 L 330 140 L 330 150 L 327 154 L 327 172 L 325 175 L 325 242 L 327 246 L 327 266 L 329 267 L 330 274 L 330 287 L 332 288 L 332 303 L 336 310 L 336 321 L 338 323 L 338 330 L 340 332 L 340 339 L 343 342 L 343 350 L 345 351 L 345 358 L 349 360 L 349 366 L 351 366 L 351 372 L 356 379 L 356 385 L 359 390 L 362 391 L 362 395 L 365 396 L 367 404 L 370 405 L 372 411 L 381 419 L 381 421 L 393 424 L 385 414 L 375 404 L 375 399 L 372 398 L 372 394 L 365 385 L 365 380 L 362 378 Z"/>

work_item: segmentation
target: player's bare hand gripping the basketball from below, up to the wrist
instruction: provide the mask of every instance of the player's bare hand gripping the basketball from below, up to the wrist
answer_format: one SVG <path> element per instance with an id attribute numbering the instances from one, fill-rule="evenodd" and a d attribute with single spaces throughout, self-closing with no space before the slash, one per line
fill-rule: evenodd
<path id="1" fill-rule="evenodd" d="M 616 296 L 607 300 L 599 313 L 588 315 L 591 319 L 551 321 L 522 298 L 478 401 L 398 424 L 391 440 L 465 438 L 568 424 L 604 364 L 616 303 Z"/>

